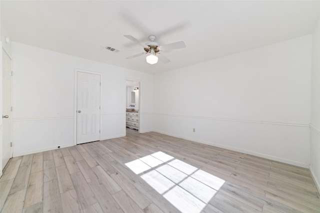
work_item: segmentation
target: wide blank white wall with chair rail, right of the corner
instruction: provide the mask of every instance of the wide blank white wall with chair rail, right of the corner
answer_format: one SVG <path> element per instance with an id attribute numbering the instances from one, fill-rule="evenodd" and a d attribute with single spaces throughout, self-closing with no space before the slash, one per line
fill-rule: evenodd
<path id="1" fill-rule="evenodd" d="M 311 39 L 155 75 L 154 130 L 308 167 Z"/>

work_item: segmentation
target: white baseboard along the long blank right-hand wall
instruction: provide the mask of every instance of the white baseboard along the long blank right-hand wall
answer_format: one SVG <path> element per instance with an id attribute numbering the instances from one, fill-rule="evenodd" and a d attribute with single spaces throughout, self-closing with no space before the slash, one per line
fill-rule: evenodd
<path id="1" fill-rule="evenodd" d="M 232 150 L 232 151 L 235 151 L 235 152 L 241 152 L 241 153 L 244 153 L 244 154 L 253 155 L 253 156 L 257 156 L 257 157 L 261 157 L 261 158 L 266 158 L 266 159 L 269 159 L 269 160 L 278 161 L 278 162 L 281 162 L 281 163 L 290 164 L 290 165 L 294 165 L 294 166 L 298 166 L 298 167 L 303 167 L 303 168 L 306 168 L 306 169 L 309 168 L 308 164 L 303 164 L 303 163 L 300 163 L 300 162 L 291 161 L 291 160 L 287 160 L 287 159 L 283 159 L 283 158 L 279 158 L 279 157 L 275 157 L 275 156 L 265 155 L 265 154 L 257 153 L 257 152 L 251 152 L 251 151 L 248 151 L 248 150 L 238 149 L 238 148 L 229 147 L 229 146 L 223 146 L 221 144 L 215 144 L 215 143 L 208 142 L 208 141 L 196 140 L 194 138 L 181 137 L 179 135 L 170 134 L 170 133 L 161 132 L 161 131 L 156 131 L 156 130 L 154 130 L 153 132 L 157 132 L 157 133 L 161 133 L 161 134 L 164 134 L 164 135 L 173 136 L 173 137 L 176 137 L 176 138 L 182 138 L 182 139 L 185 139 L 185 140 L 194 141 L 194 142 L 198 142 L 198 143 L 202 143 L 202 144 L 206 144 L 206 145 L 210 145 L 210 146 L 214 146 L 214 147 L 219 147 L 219 148 L 222 148 L 222 149 Z"/>

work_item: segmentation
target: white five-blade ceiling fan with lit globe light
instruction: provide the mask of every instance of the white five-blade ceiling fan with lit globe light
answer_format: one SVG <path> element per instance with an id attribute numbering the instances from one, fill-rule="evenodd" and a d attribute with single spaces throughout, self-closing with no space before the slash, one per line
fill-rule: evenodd
<path id="1" fill-rule="evenodd" d="M 155 64 L 158 62 L 158 58 L 160 59 L 161 62 L 163 63 L 168 63 L 170 62 L 169 59 L 167 59 L 165 56 L 163 56 L 162 54 L 160 54 L 160 51 L 167 51 L 167 50 L 171 50 L 171 49 L 179 49 L 179 48 L 184 48 L 185 44 L 183 41 L 178 41 L 178 42 L 174 42 L 174 43 L 169 43 L 169 44 L 164 44 L 164 45 L 159 45 L 158 43 L 154 42 L 155 40 L 155 35 L 149 35 L 149 42 L 147 43 L 143 43 L 141 41 L 139 41 L 138 39 L 134 38 L 131 35 L 124 35 L 124 37 L 130 39 L 131 41 L 141 45 L 144 48 L 144 52 L 142 53 L 138 53 L 136 55 L 132 55 L 127 57 L 127 59 L 131 59 L 131 58 L 135 58 L 137 56 L 140 55 L 145 55 L 148 54 L 146 56 L 146 62 L 149 64 Z"/>

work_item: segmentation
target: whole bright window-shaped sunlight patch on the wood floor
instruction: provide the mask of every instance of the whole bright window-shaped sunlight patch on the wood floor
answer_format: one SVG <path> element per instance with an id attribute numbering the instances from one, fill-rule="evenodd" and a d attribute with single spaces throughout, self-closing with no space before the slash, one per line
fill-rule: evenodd
<path id="1" fill-rule="evenodd" d="M 200 213 L 225 182 L 163 152 L 125 165 L 182 213 Z"/>

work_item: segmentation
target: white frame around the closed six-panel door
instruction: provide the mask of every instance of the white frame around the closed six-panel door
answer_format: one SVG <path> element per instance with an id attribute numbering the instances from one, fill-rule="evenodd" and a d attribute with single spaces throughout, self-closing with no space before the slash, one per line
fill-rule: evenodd
<path id="1" fill-rule="evenodd" d="M 76 130 L 77 130 L 77 90 L 78 90 L 78 72 L 83 72 L 83 73 L 88 73 L 88 74 L 94 74 L 94 75 L 99 75 L 100 76 L 100 82 L 101 82 L 101 73 L 100 72 L 93 72 L 93 71 L 89 71 L 89 70 L 84 70 L 84 69 L 74 69 L 74 108 L 73 108 L 73 144 L 74 146 L 77 145 L 77 134 L 76 134 Z M 100 84 L 100 108 L 101 108 L 101 95 L 102 90 L 101 90 L 101 84 Z M 101 109 L 100 109 L 100 130 L 101 130 Z M 99 140 L 101 140 L 101 132 L 99 134 Z"/>

